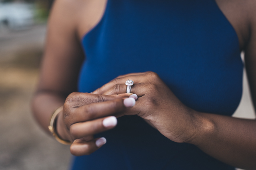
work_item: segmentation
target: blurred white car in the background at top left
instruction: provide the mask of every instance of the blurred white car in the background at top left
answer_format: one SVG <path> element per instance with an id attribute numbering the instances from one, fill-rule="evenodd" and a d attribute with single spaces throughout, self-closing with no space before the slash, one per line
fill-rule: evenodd
<path id="1" fill-rule="evenodd" d="M 34 5 L 26 3 L 0 3 L 0 30 L 27 29 L 34 23 Z"/>

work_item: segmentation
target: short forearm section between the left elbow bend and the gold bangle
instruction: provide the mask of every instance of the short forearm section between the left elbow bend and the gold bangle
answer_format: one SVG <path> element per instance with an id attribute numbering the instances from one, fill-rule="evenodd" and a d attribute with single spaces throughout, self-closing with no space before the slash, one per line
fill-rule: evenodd
<path id="1" fill-rule="evenodd" d="M 65 99 L 64 96 L 50 92 L 35 94 L 32 100 L 32 111 L 36 121 L 46 132 L 49 132 L 48 126 L 53 112 L 64 104 Z"/>

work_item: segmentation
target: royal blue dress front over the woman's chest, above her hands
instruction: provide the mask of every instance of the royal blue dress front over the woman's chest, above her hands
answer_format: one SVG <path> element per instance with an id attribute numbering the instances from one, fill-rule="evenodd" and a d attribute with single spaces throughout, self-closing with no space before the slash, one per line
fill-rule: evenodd
<path id="1" fill-rule="evenodd" d="M 186 106 L 231 115 L 242 94 L 243 66 L 236 31 L 215 2 L 131 2 L 110 1 L 102 20 L 83 37 L 80 91 L 150 70 Z"/>

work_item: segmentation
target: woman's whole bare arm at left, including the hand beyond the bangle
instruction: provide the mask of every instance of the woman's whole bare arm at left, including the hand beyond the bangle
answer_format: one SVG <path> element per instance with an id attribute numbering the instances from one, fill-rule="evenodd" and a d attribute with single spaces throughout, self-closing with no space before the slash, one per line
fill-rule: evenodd
<path id="1" fill-rule="evenodd" d="M 94 0 L 55 2 L 48 23 L 40 82 L 32 101 L 34 117 L 46 132 L 49 132 L 53 112 L 64 105 L 63 111 L 56 117 L 56 131 L 61 139 L 73 142 L 70 152 L 76 156 L 90 154 L 106 143 L 106 139 L 94 139 L 93 135 L 116 126 L 116 117 L 110 117 L 115 113 L 112 108 L 116 106 L 109 105 L 109 100 L 118 104 L 119 111 L 130 107 L 123 102 L 130 94 L 102 96 L 75 92 L 84 59 L 79 37 L 100 19 L 100 13 L 94 10 L 99 8 L 99 4 L 92 2 L 99 2 L 100 7 L 104 7 L 104 3 Z M 96 12 L 98 15 L 94 18 L 88 13 L 84 14 L 84 11 L 90 14 Z M 80 26 L 83 27 L 82 31 L 79 31 L 78 25 L 80 16 L 89 16 L 91 19 L 83 18 L 84 25 Z"/>

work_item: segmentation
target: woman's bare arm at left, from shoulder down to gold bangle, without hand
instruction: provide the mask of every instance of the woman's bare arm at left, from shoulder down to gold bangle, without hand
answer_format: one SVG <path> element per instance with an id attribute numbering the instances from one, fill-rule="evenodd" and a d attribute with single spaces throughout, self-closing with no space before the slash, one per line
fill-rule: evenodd
<path id="1" fill-rule="evenodd" d="M 34 117 L 47 132 L 54 110 L 64 104 L 70 93 L 76 91 L 78 71 L 84 59 L 76 35 L 74 14 L 72 3 L 57 0 L 48 22 L 39 85 L 32 101 Z"/>

